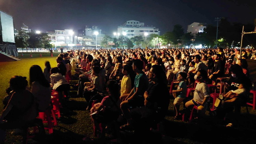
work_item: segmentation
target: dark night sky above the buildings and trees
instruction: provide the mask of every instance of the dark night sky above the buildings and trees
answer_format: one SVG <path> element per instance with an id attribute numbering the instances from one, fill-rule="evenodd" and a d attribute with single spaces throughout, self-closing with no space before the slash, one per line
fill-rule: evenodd
<path id="1" fill-rule="evenodd" d="M 216 17 L 230 22 L 253 23 L 254 0 L 0 0 L 0 10 L 13 16 L 14 27 L 22 23 L 32 30 L 73 29 L 98 26 L 104 34 L 117 31 L 126 20 L 138 20 L 159 28 L 160 35 L 181 24 L 216 25 Z"/>

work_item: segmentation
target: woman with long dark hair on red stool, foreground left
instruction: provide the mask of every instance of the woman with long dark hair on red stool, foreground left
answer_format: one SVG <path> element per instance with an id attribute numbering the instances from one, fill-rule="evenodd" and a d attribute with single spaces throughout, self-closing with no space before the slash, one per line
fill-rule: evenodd
<path id="1" fill-rule="evenodd" d="M 35 97 L 38 111 L 44 112 L 51 102 L 51 88 L 39 65 L 33 65 L 30 68 L 30 87 Z"/>

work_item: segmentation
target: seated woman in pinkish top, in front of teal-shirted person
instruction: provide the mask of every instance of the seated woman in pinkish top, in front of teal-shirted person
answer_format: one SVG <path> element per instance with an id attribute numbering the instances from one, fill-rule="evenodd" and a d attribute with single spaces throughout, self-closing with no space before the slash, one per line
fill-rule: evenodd
<path id="1" fill-rule="evenodd" d="M 93 121 L 93 125 L 95 127 L 95 131 L 99 131 L 99 123 L 101 123 L 102 126 L 102 131 L 100 132 L 99 137 L 104 138 L 105 133 L 104 133 L 104 128 L 105 125 L 113 122 L 114 120 L 117 120 L 119 114 L 121 113 L 120 110 L 120 100 L 119 100 L 119 87 L 118 83 L 115 80 L 109 80 L 107 82 L 107 92 L 108 96 L 104 97 L 101 103 L 96 103 L 92 108 L 91 108 L 91 113 L 96 112 L 95 114 L 91 115 L 91 119 Z M 118 127 L 115 127 L 116 132 Z"/>

